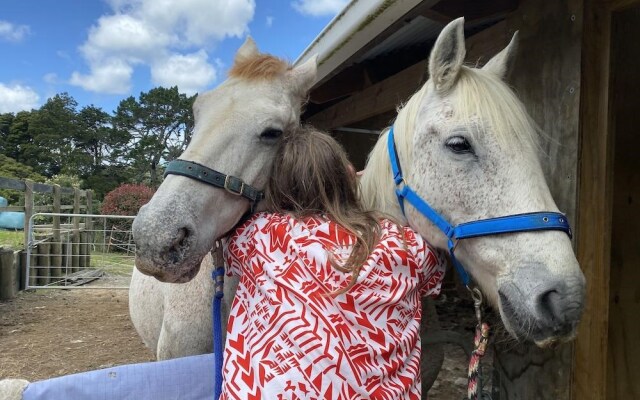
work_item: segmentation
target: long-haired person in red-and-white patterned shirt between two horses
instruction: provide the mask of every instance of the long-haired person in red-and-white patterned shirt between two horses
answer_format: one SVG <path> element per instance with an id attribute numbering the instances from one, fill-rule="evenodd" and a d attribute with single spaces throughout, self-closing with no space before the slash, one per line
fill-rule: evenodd
<path id="1" fill-rule="evenodd" d="M 225 246 L 241 278 L 221 398 L 420 399 L 420 298 L 444 261 L 363 208 L 345 151 L 313 129 L 282 138 L 266 203 Z"/>

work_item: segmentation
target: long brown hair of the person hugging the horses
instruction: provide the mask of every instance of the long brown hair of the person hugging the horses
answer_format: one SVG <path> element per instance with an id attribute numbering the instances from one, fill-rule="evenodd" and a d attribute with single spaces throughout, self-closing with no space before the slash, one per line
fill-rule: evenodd
<path id="1" fill-rule="evenodd" d="M 379 217 L 360 203 L 355 171 L 350 166 L 346 152 L 335 139 L 312 128 L 301 128 L 283 138 L 265 193 L 268 210 L 296 218 L 324 215 L 355 238 L 343 265 L 329 255 L 334 268 L 351 273 L 349 284 L 330 295 L 344 293 L 356 283 L 380 239 Z"/>

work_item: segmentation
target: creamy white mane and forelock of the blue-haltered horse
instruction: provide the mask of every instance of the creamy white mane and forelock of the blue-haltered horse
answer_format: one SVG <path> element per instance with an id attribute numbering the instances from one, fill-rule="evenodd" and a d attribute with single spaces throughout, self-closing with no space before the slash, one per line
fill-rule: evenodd
<path id="1" fill-rule="evenodd" d="M 413 165 L 413 132 L 423 99 L 433 89 L 430 82 L 425 83 L 411 98 L 398 108 L 394 122 L 394 136 L 398 157 L 405 179 L 411 175 Z M 522 102 L 514 92 L 495 74 L 481 69 L 463 66 L 458 82 L 452 89 L 451 126 L 464 125 L 472 135 L 480 135 L 491 130 L 500 146 L 505 149 L 513 146 L 539 149 L 540 130 L 531 120 Z M 480 101 L 478 101 L 480 99 Z M 479 115 L 483 118 L 480 120 Z M 391 164 L 387 151 L 385 129 L 376 142 L 360 179 L 363 204 L 373 210 L 385 212 L 406 223 L 400 212 L 395 195 L 395 183 L 391 176 Z M 408 182 L 411 184 L 411 182 Z"/>

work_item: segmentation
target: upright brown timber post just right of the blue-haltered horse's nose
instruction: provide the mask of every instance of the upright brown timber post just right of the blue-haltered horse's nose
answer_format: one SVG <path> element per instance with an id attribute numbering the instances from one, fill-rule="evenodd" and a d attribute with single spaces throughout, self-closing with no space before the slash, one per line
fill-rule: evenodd
<path id="1" fill-rule="evenodd" d="M 578 261 L 587 278 L 575 342 L 573 399 L 604 399 L 609 319 L 612 137 L 609 131 L 610 10 L 585 0 L 580 103 Z"/>

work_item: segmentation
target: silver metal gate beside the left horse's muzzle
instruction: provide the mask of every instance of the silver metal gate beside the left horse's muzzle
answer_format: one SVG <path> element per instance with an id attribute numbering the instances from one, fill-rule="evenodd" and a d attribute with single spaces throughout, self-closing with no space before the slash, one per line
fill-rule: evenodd
<path id="1" fill-rule="evenodd" d="M 29 219 L 25 287 L 129 287 L 134 216 L 37 213 Z"/>

